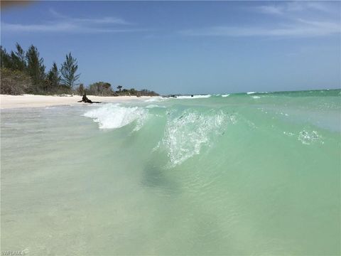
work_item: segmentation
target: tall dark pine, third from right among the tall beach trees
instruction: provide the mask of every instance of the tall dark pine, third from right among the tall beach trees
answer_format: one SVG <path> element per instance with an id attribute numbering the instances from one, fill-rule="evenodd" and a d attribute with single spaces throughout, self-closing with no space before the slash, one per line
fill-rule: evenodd
<path id="1" fill-rule="evenodd" d="M 43 58 L 39 58 L 38 50 L 35 46 L 30 46 L 26 53 L 27 73 L 31 76 L 36 87 L 43 85 L 45 78 L 45 65 Z"/>

